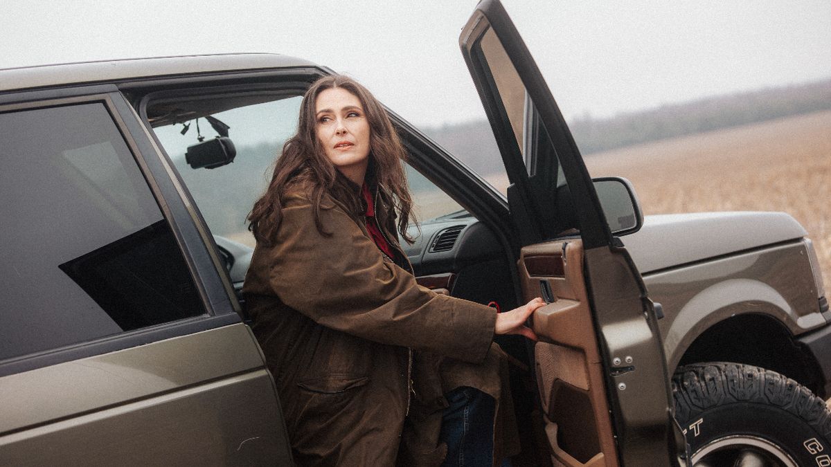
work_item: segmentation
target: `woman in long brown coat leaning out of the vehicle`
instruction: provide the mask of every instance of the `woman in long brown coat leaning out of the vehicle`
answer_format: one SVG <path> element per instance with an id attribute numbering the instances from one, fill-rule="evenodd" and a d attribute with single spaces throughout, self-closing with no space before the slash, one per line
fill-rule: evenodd
<path id="1" fill-rule="evenodd" d="M 249 214 L 243 292 L 300 465 L 440 463 L 459 438 L 443 393 L 499 396 L 494 334 L 534 338 L 541 301 L 497 315 L 416 283 L 395 234 L 412 241 L 405 155 L 363 86 L 323 77 Z"/>

